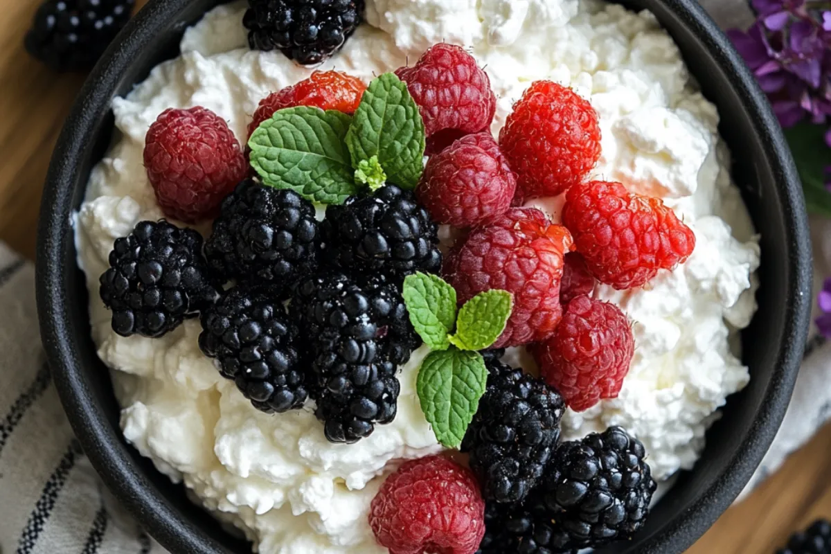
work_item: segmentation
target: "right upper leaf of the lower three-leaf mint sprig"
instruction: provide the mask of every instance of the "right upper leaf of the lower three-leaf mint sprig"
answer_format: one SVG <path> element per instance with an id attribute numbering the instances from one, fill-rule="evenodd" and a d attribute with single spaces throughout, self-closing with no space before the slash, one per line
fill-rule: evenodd
<path id="1" fill-rule="evenodd" d="M 511 315 L 514 297 L 507 291 L 480 292 L 465 302 L 450 342 L 462 350 L 479 351 L 494 344 Z"/>

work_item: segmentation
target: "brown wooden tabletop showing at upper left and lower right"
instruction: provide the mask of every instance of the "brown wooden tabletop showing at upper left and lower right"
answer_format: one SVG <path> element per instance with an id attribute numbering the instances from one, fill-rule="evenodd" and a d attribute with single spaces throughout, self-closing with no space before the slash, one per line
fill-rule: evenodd
<path id="1" fill-rule="evenodd" d="M 139 0 L 143 4 L 143 0 Z M 37 210 L 52 146 L 82 76 L 32 61 L 22 39 L 36 2 L 0 0 L 0 241 L 34 257 Z M 766 554 L 816 517 L 831 517 L 831 426 L 687 554 Z"/>

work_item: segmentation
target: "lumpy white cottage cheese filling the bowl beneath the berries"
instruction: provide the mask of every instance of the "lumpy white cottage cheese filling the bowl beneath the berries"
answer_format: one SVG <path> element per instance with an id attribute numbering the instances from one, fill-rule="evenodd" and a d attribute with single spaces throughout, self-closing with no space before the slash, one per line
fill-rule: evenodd
<path id="1" fill-rule="evenodd" d="M 676 271 L 643 290 L 598 287 L 599 297 L 634 321 L 632 370 L 617 400 L 563 419 L 569 438 L 610 424 L 631 430 L 646 445 L 656 478 L 691 468 L 716 409 L 748 380 L 735 357 L 736 330 L 755 311 L 759 248 L 730 181 L 718 115 L 696 91 L 676 45 L 651 14 L 595 0 L 367 0 L 366 9 L 369 25 L 323 69 L 369 81 L 435 42 L 465 45 L 499 97 L 494 133 L 531 81 L 572 86 L 600 115 L 595 176 L 662 196 L 693 228 L 696 250 Z M 124 338 L 111 331 L 98 299 L 113 241 L 138 221 L 161 217 L 142 167 L 155 117 L 169 107 L 203 105 L 242 140 L 263 96 L 308 75 L 279 53 L 249 51 L 243 11 L 234 3 L 209 12 L 185 32 L 181 56 L 113 101 L 120 135 L 93 170 L 76 221 L 93 339 L 113 370 L 125 438 L 259 552 L 381 554 L 366 513 L 383 475 L 401 459 L 440 449 L 414 392 L 423 348 L 401 369 L 395 421 L 357 444 L 329 444 L 310 409 L 253 409 L 199 351 L 198 321 L 160 339 Z M 559 218 L 562 199 L 533 204 Z"/>

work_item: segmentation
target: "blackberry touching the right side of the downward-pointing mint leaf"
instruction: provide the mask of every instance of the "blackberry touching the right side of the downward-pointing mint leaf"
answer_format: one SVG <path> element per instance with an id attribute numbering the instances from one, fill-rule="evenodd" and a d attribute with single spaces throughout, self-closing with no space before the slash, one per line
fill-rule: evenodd
<path id="1" fill-rule="evenodd" d="M 485 360 L 488 388 L 462 441 L 484 499 L 520 503 L 543 477 L 560 437 L 565 404 L 543 380 L 497 358 Z"/>

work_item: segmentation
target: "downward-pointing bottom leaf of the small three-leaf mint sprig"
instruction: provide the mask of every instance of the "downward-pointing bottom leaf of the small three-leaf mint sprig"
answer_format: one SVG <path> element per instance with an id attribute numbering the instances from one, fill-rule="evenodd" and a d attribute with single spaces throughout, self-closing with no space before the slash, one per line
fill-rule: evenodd
<path id="1" fill-rule="evenodd" d="M 488 370 L 479 352 L 450 348 L 430 352 L 424 359 L 416 390 L 421 410 L 441 444 L 459 447 L 487 381 Z"/>

